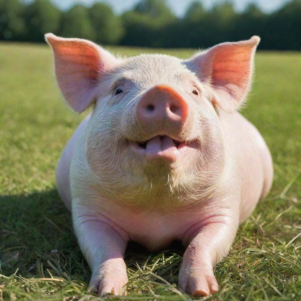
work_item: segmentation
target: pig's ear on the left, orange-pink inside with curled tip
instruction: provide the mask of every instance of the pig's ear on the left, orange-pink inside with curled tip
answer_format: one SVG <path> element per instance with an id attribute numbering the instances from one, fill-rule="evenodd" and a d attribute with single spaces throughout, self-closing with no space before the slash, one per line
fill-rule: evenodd
<path id="1" fill-rule="evenodd" d="M 95 43 L 45 34 L 54 53 L 57 83 L 73 110 L 84 111 L 97 95 L 101 77 L 116 64 L 116 58 Z"/>

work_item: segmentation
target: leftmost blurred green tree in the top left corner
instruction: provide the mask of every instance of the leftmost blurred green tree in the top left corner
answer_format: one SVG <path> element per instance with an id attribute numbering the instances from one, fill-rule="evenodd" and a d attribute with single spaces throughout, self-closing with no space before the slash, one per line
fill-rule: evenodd
<path id="1" fill-rule="evenodd" d="M 22 19 L 23 5 L 18 0 L 0 0 L 0 39 L 23 38 L 25 26 Z"/>

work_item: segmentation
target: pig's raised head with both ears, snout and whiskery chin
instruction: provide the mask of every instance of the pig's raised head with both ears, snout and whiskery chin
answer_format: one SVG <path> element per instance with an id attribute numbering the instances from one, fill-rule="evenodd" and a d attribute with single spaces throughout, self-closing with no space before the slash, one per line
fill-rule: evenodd
<path id="1" fill-rule="evenodd" d="M 116 58 L 87 40 L 53 34 L 46 40 L 67 103 L 77 112 L 95 103 L 83 143 L 103 194 L 195 200 L 218 185 L 226 161 L 218 112 L 244 102 L 259 37 L 185 61 L 160 54 Z"/>

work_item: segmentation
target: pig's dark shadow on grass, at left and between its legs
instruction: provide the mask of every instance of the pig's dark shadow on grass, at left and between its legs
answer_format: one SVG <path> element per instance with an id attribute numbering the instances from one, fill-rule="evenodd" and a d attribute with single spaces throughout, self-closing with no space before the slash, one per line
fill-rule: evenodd
<path id="1" fill-rule="evenodd" d="M 55 266 L 59 262 L 69 275 L 86 283 L 90 280 L 90 269 L 73 233 L 71 214 L 55 189 L 0 196 L 0 208 L 0 274 L 11 275 L 18 269 L 23 277 L 41 277 L 41 265 L 44 271 L 54 270 L 51 261 Z M 175 242 L 165 253 L 172 252 L 182 255 L 184 248 Z M 152 260 L 162 252 L 150 253 L 131 242 L 125 261 L 136 269 L 137 262 L 142 264 L 149 256 Z"/>

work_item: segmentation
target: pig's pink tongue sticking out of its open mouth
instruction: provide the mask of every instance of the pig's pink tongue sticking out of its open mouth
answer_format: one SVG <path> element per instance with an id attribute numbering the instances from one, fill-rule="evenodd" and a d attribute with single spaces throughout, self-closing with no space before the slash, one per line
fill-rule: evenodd
<path id="1" fill-rule="evenodd" d="M 162 158 L 173 162 L 177 159 L 178 154 L 177 147 L 172 138 L 168 136 L 156 136 L 146 143 L 147 160 Z"/>

